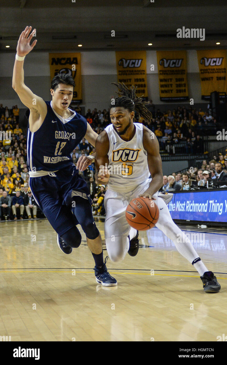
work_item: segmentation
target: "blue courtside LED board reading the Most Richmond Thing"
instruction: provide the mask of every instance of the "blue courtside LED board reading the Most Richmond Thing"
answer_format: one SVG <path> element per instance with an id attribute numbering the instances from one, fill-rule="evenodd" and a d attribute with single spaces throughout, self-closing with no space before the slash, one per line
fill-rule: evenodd
<path id="1" fill-rule="evenodd" d="M 168 208 L 173 219 L 227 222 L 227 190 L 175 193 Z"/>

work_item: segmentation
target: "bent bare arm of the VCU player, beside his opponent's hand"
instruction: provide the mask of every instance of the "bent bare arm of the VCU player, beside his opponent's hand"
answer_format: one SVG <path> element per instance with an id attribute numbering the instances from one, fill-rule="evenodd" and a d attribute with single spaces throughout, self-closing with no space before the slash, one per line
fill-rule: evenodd
<path id="1" fill-rule="evenodd" d="M 95 150 L 95 180 L 98 184 L 107 185 L 110 174 L 107 169 L 107 166 L 109 165 L 109 138 L 106 131 L 103 131 L 98 135 L 95 143 Z"/>

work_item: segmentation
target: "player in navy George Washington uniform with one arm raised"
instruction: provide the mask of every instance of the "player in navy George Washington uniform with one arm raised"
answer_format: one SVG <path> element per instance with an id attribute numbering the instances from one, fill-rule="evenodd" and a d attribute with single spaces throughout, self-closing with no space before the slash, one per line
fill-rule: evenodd
<path id="1" fill-rule="evenodd" d="M 44 101 L 24 84 L 24 57 L 34 48 L 30 45 L 35 29 L 26 27 L 21 33 L 14 64 L 12 87 L 20 100 L 30 109 L 27 132 L 27 164 L 29 186 L 51 226 L 57 232 L 60 249 L 70 254 L 80 246 L 80 224 L 95 260 L 96 281 L 104 286 L 115 286 L 115 278 L 107 272 L 103 262 L 100 233 L 92 216 L 91 198 L 85 180 L 78 169 L 85 169 L 91 159 L 82 157 L 77 167 L 70 156 L 85 137 L 93 146 L 97 134 L 86 119 L 69 109 L 73 97 L 74 80 L 68 74 L 57 74 L 51 80 L 52 101 Z"/>

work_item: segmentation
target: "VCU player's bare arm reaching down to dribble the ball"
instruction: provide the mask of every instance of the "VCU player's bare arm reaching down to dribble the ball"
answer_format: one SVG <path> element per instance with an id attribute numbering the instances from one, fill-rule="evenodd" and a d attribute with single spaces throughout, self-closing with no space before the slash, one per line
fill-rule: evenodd
<path id="1" fill-rule="evenodd" d="M 163 185 L 162 160 L 158 139 L 153 132 L 143 126 L 143 147 L 147 151 L 147 164 L 152 177 L 149 188 L 141 196 L 152 197 Z"/>

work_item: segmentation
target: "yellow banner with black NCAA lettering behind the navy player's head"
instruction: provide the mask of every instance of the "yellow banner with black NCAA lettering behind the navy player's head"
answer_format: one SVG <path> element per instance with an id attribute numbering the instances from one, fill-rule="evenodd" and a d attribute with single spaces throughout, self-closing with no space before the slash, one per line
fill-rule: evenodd
<path id="1" fill-rule="evenodd" d="M 81 54 L 80 53 L 49 53 L 50 77 L 57 73 L 67 73 L 73 77 L 76 86 L 73 91 L 73 99 L 76 103 L 82 103 L 81 91 Z"/>

